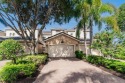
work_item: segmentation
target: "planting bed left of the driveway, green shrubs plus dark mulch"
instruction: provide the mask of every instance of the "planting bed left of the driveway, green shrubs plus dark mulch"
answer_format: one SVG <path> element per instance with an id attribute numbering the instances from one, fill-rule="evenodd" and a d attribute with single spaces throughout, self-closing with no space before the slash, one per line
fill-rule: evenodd
<path id="1" fill-rule="evenodd" d="M 47 55 L 18 57 L 16 64 L 9 62 L 0 70 L 0 80 L 6 83 L 32 83 L 46 60 Z"/>

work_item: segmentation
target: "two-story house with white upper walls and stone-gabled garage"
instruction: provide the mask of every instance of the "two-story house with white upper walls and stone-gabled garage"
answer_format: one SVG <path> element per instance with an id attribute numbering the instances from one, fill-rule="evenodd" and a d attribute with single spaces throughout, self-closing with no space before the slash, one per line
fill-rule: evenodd
<path id="1" fill-rule="evenodd" d="M 35 38 L 37 39 L 38 36 L 37 29 L 35 31 Z M 28 33 L 28 32 L 27 32 Z M 28 33 L 28 35 L 30 35 Z M 43 31 L 42 37 L 45 42 L 45 46 L 42 44 L 37 45 L 36 52 L 42 53 L 43 51 L 49 54 L 49 57 L 75 57 L 74 52 L 76 50 L 84 51 L 84 31 L 80 30 L 80 39 L 76 38 L 76 29 L 51 29 L 50 31 Z M 0 41 L 5 39 L 15 39 L 20 41 L 24 48 L 27 47 L 24 45 L 21 37 L 12 29 L 8 28 L 5 30 L 5 35 L 0 35 Z M 87 38 L 87 45 L 90 43 L 90 31 L 87 29 L 86 31 L 86 38 Z M 88 48 L 89 51 L 89 48 Z M 28 52 L 28 49 L 26 49 Z"/>

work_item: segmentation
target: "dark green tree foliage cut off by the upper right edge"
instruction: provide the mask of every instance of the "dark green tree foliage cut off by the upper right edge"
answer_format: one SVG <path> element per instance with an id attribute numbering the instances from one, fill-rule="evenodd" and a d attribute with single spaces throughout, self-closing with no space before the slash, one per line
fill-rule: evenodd
<path id="1" fill-rule="evenodd" d="M 121 31 L 125 31 L 125 3 L 118 9 L 118 26 Z"/>

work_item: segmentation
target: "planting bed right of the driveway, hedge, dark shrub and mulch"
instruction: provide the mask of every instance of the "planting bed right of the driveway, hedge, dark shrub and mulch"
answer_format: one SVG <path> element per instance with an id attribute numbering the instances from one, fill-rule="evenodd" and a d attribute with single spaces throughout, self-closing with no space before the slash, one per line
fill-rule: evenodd
<path id="1" fill-rule="evenodd" d="M 107 59 L 102 56 L 89 55 L 86 57 L 81 51 L 76 51 L 75 54 L 77 58 L 125 79 L 125 62 Z"/>

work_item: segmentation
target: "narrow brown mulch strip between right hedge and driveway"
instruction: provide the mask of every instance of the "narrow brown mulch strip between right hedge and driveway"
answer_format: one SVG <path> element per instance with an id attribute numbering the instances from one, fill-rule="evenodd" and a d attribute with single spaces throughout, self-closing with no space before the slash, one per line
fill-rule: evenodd
<path id="1" fill-rule="evenodd" d="M 87 62 L 86 60 L 84 60 L 84 61 Z M 87 63 L 89 63 L 89 62 L 87 62 Z M 91 64 L 91 63 L 89 63 L 89 64 Z M 105 68 L 105 67 L 103 67 L 103 66 L 98 66 L 98 65 L 95 65 L 95 64 L 91 64 L 91 65 L 96 66 L 96 67 L 98 67 L 98 68 L 100 68 L 100 69 L 102 69 L 102 70 L 104 70 L 104 71 L 106 71 L 106 72 L 109 72 L 109 73 L 111 73 L 112 75 L 115 75 L 115 76 L 118 76 L 118 77 L 120 77 L 120 78 L 125 79 L 125 74 L 116 72 L 116 71 L 111 70 L 111 69 L 107 69 L 107 68 Z"/>

